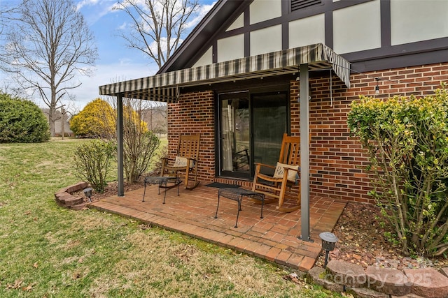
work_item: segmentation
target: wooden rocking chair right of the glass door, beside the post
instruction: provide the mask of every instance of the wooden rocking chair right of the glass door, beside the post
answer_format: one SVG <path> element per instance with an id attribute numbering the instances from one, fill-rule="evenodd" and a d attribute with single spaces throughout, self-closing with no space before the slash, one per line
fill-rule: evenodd
<path id="1" fill-rule="evenodd" d="M 274 169 L 274 175 L 262 174 L 262 167 Z M 297 186 L 294 187 L 297 193 L 293 186 Z M 278 200 L 279 206 L 276 208 L 279 211 L 291 212 L 300 208 L 300 137 L 283 134 L 279 162 L 276 165 L 255 163 L 252 191 Z M 292 198 L 293 207 L 283 206 L 286 195 Z"/>

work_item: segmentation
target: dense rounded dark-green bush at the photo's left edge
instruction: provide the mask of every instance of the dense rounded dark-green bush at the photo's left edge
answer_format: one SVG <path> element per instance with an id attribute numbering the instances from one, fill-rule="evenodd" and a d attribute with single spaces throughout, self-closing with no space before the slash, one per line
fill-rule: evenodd
<path id="1" fill-rule="evenodd" d="M 0 143 L 35 143 L 50 140 L 48 121 L 30 100 L 0 91 Z"/>

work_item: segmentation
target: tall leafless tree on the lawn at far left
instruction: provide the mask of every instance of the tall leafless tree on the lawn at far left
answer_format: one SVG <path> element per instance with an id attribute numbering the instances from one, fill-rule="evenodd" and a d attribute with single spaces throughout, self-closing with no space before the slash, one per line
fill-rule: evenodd
<path id="1" fill-rule="evenodd" d="M 37 93 L 48 106 L 54 136 L 62 98 L 80 86 L 76 75 L 92 72 L 97 59 L 94 37 L 71 0 L 23 0 L 8 21 L 0 56 L 8 60 L 18 86 Z"/>

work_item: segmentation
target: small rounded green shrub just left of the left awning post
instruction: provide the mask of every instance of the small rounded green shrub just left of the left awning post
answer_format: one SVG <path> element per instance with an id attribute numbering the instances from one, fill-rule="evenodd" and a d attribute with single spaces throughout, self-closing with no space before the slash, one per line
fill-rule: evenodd
<path id="1" fill-rule="evenodd" d="M 104 193 L 107 172 L 115 154 L 116 145 L 113 142 L 90 140 L 80 145 L 74 152 L 76 174 L 89 182 L 95 191 Z"/>

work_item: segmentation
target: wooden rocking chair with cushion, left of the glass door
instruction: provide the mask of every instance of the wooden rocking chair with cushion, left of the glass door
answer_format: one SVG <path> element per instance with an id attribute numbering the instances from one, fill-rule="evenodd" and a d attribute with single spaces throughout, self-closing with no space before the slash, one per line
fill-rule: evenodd
<path id="1" fill-rule="evenodd" d="M 193 189 L 200 184 L 197 180 L 200 135 L 180 135 L 176 158 L 162 158 L 162 176 L 179 177 L 185 172 L 185 188 Z M 189 181 L 193 184 L 189 186 Z"/>

